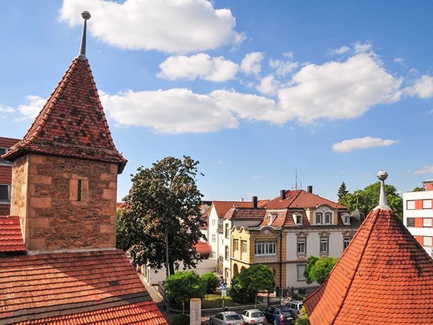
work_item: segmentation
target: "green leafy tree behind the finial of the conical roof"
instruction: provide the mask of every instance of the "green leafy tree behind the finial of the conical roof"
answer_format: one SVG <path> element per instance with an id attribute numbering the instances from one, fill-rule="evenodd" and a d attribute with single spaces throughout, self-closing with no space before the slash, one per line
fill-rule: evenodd
<path id="1" fill-rule="evenodd" d="M 394 210 L 395 214 L 403 220 L 403 199 L 397 193 L 397 189 L 393 185 L 386 184 L 386 199 L 388 200 L 388 205 Z M 354 193 L 347 193 L 339 203 L 345 205 L 349 211 L 354 211 L 356 208 L 356 195 L 359 198 L 358 208 L 367 216 L 367 214 L 379 205 L 379 195 L 380 195 L 380 182 L 375 182 L 368 185 L 363 190 L 354 191 Z"/>

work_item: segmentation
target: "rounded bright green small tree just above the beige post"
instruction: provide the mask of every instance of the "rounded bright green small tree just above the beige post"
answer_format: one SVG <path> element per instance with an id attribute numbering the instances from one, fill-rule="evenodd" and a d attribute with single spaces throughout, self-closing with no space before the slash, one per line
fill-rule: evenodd
<path id="1" fill-rule="evenodd" d="M 182 304 L 184 311 L 185 301 L 191 298 L 203 298 L 206 286 L 203 280 L 194 271 L 180 271 L 166 278 L 164 285 L 166 298 Z"/>

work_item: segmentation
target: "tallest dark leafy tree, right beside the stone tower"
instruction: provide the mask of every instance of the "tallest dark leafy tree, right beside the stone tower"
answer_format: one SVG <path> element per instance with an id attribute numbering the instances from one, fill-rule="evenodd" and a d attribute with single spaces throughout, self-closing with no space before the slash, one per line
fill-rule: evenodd
<path id="1" fill-rule="evenodd" d="M 190 157 L 183 161 L 166 157 L 132 175 L 118 235 L 122 237 L 120 246 L 129 249 L 134 264 L 155 269 L 165 265 L 170 274 L 179 261 L 184 267 L 196 266 L 194 245 L 203 238 L 200 226 L 204 224 L 197 165 Z"/>

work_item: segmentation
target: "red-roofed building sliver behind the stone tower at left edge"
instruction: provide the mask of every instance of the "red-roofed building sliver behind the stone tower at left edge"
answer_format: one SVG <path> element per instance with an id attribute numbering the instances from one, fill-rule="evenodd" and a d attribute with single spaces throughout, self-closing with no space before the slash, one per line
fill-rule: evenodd
<path id="1" fill-rule="evenodd" d="M 12 184 L 12 163 L 1 158 L 19 139 L 0 136 L 0 216 L 10 212 L 10 184 Z"/>

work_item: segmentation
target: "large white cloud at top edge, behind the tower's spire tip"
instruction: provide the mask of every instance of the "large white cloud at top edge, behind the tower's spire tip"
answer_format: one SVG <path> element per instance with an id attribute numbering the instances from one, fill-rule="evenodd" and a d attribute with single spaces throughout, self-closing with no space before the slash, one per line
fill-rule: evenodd
<path id="1" fill-rule="evenodd" d="M 88 31 L 121 49 L 188 53 L 236 45 L 244 39 L 235 31 L 231 11 L 214 9 L 207 0 L 63 0 L 60 19 L 81 26 L 83 9 L 92 15 Z"/>

